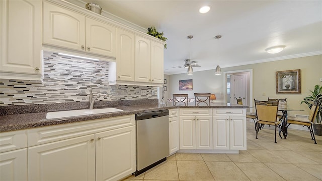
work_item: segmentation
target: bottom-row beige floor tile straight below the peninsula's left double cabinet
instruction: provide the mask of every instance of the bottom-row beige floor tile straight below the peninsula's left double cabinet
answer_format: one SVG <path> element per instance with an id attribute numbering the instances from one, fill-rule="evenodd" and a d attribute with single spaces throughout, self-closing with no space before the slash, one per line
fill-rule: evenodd
<path id="1" fill-rule="evenodd" d="M 177 160 L 180 180 L 214 180 L 204 161 Z"/>

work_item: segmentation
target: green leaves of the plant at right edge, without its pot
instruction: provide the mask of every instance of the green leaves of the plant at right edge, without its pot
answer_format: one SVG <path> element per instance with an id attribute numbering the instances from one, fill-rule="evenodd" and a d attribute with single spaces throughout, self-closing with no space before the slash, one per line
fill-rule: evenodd
<path id="1" fill-rule="evenodd" d="M 310 90 L 310 92 L 312 93 L 312 95 L 305 97 L 304 100 L 301 102 L 301 104 L 305 103 L 308 106 L 308 108 L 311 109 L 313 102 L 318 101 L 317 106 L 319 107 L 316 114 L 316 122 L 321 123 L 318 120 L 318 118 L 322 117 L 322 86 L 315 85 L 314 90 L 313 91 Z"/>

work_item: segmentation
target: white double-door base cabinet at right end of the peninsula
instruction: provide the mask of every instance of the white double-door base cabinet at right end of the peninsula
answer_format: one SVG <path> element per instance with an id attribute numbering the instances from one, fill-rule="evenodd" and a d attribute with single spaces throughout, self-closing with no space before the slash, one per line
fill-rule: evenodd
<path id="1" fill-rule="evenodd" d="M 246 117 L 213 117 L 214 149 L 246 150 Z"/>

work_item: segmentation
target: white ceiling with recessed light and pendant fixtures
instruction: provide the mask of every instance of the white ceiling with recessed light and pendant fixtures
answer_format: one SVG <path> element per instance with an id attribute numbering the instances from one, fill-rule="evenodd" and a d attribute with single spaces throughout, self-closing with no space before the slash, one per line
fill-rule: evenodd
<path id="1" fill-rule="evenodd" d="M 191 60 L 201 66 L 194 71 L 215 69 L 218 52 L 221 68 L 322 54 L 322 1 L 84 2 L 97 3 L 103 11 L 144 29 L 155 26 L 157 31 L 164 31 L 168 38 L 165 74 L 187 72 L 172 67 L 189 58 L 188 35 L 194 36 Z M 207 14 L 199 13 L 203 5 L 211 8 Z M 216 35 L 222 35 L 219 51 Z M 276 45 L 286 48 L 278 54 L 265 52 Z"/>

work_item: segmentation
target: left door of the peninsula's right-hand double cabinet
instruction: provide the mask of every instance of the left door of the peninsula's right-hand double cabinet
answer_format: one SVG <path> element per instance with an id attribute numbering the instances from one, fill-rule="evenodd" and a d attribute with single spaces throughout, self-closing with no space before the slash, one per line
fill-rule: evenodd
<path id="1" fill-rule="evenodd" d="M 213 149 L 229 149 L 229 116 L 213 117 Z"/>

